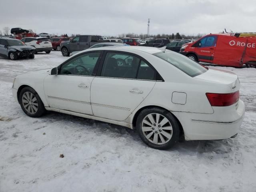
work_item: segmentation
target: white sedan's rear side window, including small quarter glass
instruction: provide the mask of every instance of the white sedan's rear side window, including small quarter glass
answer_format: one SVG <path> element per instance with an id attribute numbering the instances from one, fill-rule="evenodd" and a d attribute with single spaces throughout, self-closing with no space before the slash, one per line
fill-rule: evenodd
<path id="1" fill-rule="evenodd" d="M 155 80 L 155 70 L 144 60 L 130 54 L 107 53 L 101 76 L 140 80 Z"/>

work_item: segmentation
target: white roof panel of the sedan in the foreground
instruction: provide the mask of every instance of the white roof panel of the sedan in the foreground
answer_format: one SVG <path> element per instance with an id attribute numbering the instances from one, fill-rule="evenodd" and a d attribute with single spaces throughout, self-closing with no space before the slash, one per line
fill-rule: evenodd
<path id="1" fill-rule="evenodd" d="M 162 52 L 163 50 L 160 50 L 159 48 L 155 47 L 146 47 L 146 46 L 108 46 L 108 47 L 100 47 L 100 48 L 92 48 L 93 50 L 116 50 L 116 51 L 131 51 L 131 50 L 137 50 L 146 52 L 149 54 L 154 54 L 157 52 Z M 86 52 L 86 50 L 82 51 Z"/>

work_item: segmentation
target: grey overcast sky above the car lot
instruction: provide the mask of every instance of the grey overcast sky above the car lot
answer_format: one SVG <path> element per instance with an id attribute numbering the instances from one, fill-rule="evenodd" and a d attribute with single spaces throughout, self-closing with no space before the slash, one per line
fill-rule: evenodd
<path id="1" fill-rule="evenodd" d="M 40 3 L 39 3 L 40 2 Z M 0 30 L 117 35 L 256 32 L 256 0 L 1 0 Z"/>

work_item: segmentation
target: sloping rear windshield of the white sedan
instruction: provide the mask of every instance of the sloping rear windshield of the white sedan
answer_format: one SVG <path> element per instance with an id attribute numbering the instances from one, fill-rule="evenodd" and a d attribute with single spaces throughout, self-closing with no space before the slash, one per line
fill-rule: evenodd
<path id="1" fill-rule="evenodd" d="M 208 70 L 206 67 L 191 60 L 190 58 L 169 50 L 154 53 L 153 55 L 167 61 L 191 77 L 203 74 Z"/>

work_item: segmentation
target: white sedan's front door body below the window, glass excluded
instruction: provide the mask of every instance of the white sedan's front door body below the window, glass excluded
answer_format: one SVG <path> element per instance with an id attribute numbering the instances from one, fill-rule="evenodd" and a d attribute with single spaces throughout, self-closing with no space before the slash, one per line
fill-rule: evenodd
<path id="1" fill-rule="evenodd" d="M 44 92 L 50 107 L 92 115 L 90 86 L 94 76 L 49 75 Z"/>

